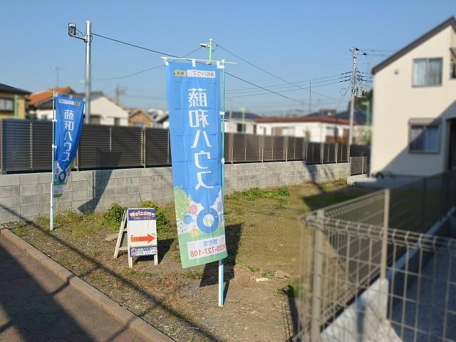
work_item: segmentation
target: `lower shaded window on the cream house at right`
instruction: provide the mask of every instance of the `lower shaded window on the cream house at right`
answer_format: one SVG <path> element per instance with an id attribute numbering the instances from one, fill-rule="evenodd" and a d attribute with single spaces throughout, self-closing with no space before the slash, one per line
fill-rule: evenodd
<path id="1" fill-rule="evenodd" d="M 439 152 L 439 126 L 411 124 L 410 152 Z"/>

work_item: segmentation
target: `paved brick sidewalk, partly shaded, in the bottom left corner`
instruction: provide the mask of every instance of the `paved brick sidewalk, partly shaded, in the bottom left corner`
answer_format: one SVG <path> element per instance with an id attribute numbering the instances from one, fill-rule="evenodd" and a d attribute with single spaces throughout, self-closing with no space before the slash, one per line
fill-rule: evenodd
<path id="1" fill-rule="evenodd" d="M 0 234 L 0 341 L 145 341 Z"/>

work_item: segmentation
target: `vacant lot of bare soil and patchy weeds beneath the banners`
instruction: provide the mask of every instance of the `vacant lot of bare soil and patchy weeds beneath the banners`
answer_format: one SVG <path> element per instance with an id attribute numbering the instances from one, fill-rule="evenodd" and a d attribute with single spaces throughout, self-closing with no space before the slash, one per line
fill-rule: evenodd
<path id="1" fill-rule="evenodd" d="M 287 191 L 288 190 L 288 191 Z M 147 258 L 128 268 L 126 253 L 113 259 L 113 228 L 103 213 L 10 224 L 13 232 L 176 341 L 289 341 L 296 328 L 299 290 L 299 214 L 342 202 L 368 190 L 341 182 L 279 190 L 247 190 L 227 196 L 226 301 L 217 306 L 217 264 L 182 269 L 173 204 L 159 227 L 160 264 Z M 288 193 L 288 195 L 287 195 Z M 276 278 L 282 271 L 286 278 Z M 257 281 L 266 278 L 267 281 Z"/>

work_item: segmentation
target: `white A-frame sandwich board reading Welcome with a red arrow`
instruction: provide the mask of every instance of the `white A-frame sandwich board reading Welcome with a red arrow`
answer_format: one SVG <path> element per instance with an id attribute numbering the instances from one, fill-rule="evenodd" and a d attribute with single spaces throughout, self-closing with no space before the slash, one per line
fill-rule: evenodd
<path id="1" fill-rule="evenodd" d="M 158 264 L 157 217 L 153 208 L 129 208 L 123 212 L 114 259 L 119 251 L 128 251 L 128 266 L 133 267 L 133 257 L 154 256 Z"/>

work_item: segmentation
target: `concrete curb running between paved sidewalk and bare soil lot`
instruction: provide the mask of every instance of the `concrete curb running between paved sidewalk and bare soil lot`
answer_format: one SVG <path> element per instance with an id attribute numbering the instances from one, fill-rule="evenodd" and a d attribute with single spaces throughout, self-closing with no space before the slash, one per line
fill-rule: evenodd
<path id="1" fill-rule="evenodd" d="M 28 254 L 28 256 L 32 257 L 40 264 L 45 266 L 49 271 L 52 271 L 60 279 L 66 281 L 67 284 L 73 286 L 73 288 L 81 292 L 81 294 L 87 296 L 88 299 L 95 302 L 95 304 L 101 306 L 111 316 L 120 321 L 120 323 L 125 324 L 125 326 L 128 326 L 128 328 L 139 333 L 143 338 L 153 342 L 174 341 L 172 338 L 166 336 L 164 333 L 151 326 L 142 318 L 139 318 L 131 311 L 128 311 L 128 309 L 120 306 L 120 304 L 118 304 L 116 301 L 113 301 L 113 299 L 110 299 L 101 291 L 95 289 L 95 287 L 91 286 L 86 281 L 83 281 L 83 279 L 71 273 L 71 271 L 68 271 L 68 269 L 65 267 L 57 264 L 56 261 L 53 261 L 53 259 L 40 252 L 31 244 L 28 244 L 28 242 L 26 242 L 24 239 L 21 239 L 16 234 L 10 232 L 9 229 L 0 229 L 0 234 L 16 247 L 22 249 L 26 254 Z"/>

